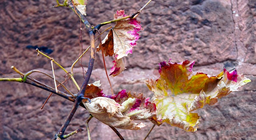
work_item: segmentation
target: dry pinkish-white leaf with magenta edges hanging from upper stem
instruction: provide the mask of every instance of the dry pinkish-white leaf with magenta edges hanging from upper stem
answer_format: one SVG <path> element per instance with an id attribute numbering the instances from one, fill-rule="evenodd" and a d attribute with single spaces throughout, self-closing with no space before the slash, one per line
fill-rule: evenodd
<path id="1" fill-rule="evenodd" d="M 123 18 L 126 16 L 124 10 L 117 11 L 114 19 Z M 142 30 L 140 21 L 136 19 L 124 19 L 117 21 L 112 27 L 108 35 L 102 41 L 103 52 L 105 56 L 115 56 L 114 66 L 111 68 L 110 75 L 117 76 L 125 66 L 122 58 L 132 53 L 136 41 L 140 38 L 138 31 Z M 98 51 L 100 47 L 98 47 Z"/>

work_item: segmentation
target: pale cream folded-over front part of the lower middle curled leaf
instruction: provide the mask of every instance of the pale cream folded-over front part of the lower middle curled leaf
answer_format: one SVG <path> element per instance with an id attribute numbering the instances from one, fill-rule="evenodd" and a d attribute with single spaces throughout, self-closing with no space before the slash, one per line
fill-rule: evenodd
<path id="1" fill-rule="evenodd" d="M 91 103 L 85 103 L 86 109 L 93 117 L 109 126 L 121 129 L 140 130 L 146 126 L 143 123 L 134 123 L 128 116 L 122 114 L 122 109 L 133 102 L 132 99 L 126 100 L 122 105 L 116 103 L 114 99 L 108 97 L 96 97 Z"/>

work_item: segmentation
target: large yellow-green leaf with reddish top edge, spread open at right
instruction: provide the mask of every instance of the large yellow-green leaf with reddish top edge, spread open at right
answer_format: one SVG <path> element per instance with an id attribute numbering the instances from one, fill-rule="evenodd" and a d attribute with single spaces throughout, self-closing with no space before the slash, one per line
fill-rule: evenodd
<path id="1" fill-rule="evenodd" d="M 147 80 L 148 88 L 154 92 L 152 103 L 156 104 L 156 121 L 167 122 L 186 131 L 196 131 L 199 116 L 191 113 L 204 105 L 214 105 L 218 98 L 250 82 L 250 79 L 229 73 L 226 69 L 217 76 L 192 74 L 194 62 L 186 60 L 182 63 L 161 62 L 157 80 Z"/>

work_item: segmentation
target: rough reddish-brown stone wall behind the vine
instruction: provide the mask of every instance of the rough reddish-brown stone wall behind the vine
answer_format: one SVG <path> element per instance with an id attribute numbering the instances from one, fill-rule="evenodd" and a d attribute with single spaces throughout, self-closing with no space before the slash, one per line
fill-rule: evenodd
<path id="1" fill-rule="evenodd" d="M 89 0 L 87 19 L 92 25 L 113 19 L 116 10 L 126 14 L 139 10 L 146 0 Z M 11 74 L 14 65 L 22 72 L 39 69 L 49 74 L 48 58 L 37 56 L 33 47 L 50 53 L 50 57 L 67 70 L 80 52 L 80 20 L 69 8 L 52 8 L 54 0 L 0 1 L 0 71 Z M 110 77 L 115 92 L 122 89 L 151 96 L 144 81 L 158 78 L 158 63 L 195 60 L 195 72 L 218 74 L 225 67 L 252 80 L 240 91 L 223 97 L 214 106 L 206 106 L 198 131 L 184 132 L 162 124 L 156 126 L 148 140 L 253 140 L 256 139 L 256 0 L 160 0 L 152 1 L 138 16 L 143 31 L 133 50 L 124 58 L 126 70 Z M 103 27 L 100 31 L 103 31 Z M 106 35 L 106 33 L 104 34 Z M 102 36 L 102 39 L 104 38 Z M 89 36 L 82 25 L 83 49 Z M 86 70 L 89 53 L 83 58 Z M 106 58 L 108 68 L 114 58 Z M 65 73 L 54 65 L 56 78 L 64 81 Z M 79 85 L 84 79 L 77 64 L 74 76 Z M 18 74 L 0 77 L 19 77 Z M 32 77 L 49 86 L 53 81 L 42 74 Z M 101 80 L 104 93 L 110 93 L 101 54 L 96 54 L 90 83 Z M 72 92 L 77 92 L 68 82 Z M 0 82 L 0 140 L 51 139 L 68 115 L 72 102 L 52 95 L 44 109 L 40 107 L 48 92 L 23 83 Z M 85 128 L 89 113 L 82 107 L 74 115 L 66 132 Z M 149 121 L 142 130 L 121 130 L 126 140 L 142 140 L 152 126 Z M 101 122 L 89 123 L 92 140 L 118 140 L 116 134 Z M 69 140 L 87 139 L 86 130 Z"/>

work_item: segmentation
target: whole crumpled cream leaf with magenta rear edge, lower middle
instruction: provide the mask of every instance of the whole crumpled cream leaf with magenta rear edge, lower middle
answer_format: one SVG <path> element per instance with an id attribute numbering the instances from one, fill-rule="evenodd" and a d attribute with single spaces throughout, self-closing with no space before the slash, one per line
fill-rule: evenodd
<path id="1" fill-rule="evenodd" d="M 98 96 L 98 97 L 96 97 Z M 86 102 L 86 109 L 99 121 L 121 129 L 138 130 L 145 125 L 136 124 L 132 120 L 146 120 L 156 116 L 156 105 L 143 97 L 142 93 L 126 92 L 117 95 L 105 95 L 100 92 Z"/>

